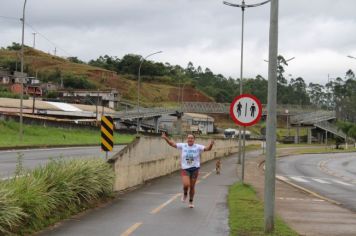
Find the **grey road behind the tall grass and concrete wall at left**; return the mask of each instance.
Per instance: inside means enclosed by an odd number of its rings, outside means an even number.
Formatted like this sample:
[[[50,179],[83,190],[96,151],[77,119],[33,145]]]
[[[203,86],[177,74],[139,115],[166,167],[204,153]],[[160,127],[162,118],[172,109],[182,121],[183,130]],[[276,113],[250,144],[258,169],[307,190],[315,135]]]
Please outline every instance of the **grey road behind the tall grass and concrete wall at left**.
[[[124,145],[114,146],[113,152],[109,152],[108,156],[114,155],[124,147]],[[99,146],[0,151],[0,178],[7,178],[14,174],[19,155],[22,156],[23,166],[26,169],[33,169],[58,158],[105,158],[105,152],[102,152]]]

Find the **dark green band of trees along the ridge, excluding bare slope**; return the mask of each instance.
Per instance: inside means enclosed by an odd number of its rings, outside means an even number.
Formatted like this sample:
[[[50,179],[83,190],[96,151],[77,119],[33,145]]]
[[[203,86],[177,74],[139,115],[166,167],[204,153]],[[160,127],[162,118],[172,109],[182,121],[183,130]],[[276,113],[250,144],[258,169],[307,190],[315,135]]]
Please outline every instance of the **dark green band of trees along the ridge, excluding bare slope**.
[[[140,55],[129,54],[123,58],[100,56],[88,64],[119,74],[137,74],[141,60]],[[356,122],[356,77],[352,70],[348,70],[341,77],[330,79],[326,85],[317,83],[306,84],[301,77],[285,77],[285,68],[288,66],[283,56],[278,56],[277,80],[278,104],[309,105],[314,104],[320,108],[337,110],[339,118]],[[239,95],[239,79],[226,78],[221,74],[214,74],[209,68],[195,67],[189,62],[186,68],[169,63],[144,61],[141,74],[146,81],[159,80],[160,83],[189,85],[203,91],[214,98],[216,102],[230,103]],[[268,82],[257,75],[256,78],[243,79],[244,93],[257,96],[262,103],[267,103]]]

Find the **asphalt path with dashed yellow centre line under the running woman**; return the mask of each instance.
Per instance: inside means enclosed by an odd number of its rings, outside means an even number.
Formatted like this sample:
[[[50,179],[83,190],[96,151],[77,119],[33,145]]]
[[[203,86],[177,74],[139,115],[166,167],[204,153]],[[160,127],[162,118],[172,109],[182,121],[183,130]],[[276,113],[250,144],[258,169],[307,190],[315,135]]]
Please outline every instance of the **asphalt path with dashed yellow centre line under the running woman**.
[[[238,180],[236,162],[236,156],[222,159],[221,175],[215,173],[215,162],[201,167],[193,209],[180,200],[181,179],[175,172],[39,235],[229,235],[226,198],[228,187]]]

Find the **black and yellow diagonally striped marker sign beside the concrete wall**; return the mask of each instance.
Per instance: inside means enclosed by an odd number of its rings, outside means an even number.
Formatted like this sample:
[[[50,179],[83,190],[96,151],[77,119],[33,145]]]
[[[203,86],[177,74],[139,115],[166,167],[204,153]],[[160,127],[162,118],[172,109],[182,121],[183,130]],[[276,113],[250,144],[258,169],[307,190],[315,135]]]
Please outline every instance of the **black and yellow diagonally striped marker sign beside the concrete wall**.
[[[114,120],[111,116],[101,117],[101,150],[106,152],[112,151],[114,147]]]

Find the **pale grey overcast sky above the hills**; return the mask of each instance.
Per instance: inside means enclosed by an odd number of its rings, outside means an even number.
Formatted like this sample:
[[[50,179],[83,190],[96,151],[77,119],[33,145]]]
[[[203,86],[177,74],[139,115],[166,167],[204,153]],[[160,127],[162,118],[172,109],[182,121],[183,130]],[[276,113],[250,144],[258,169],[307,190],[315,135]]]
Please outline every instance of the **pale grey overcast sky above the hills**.
[[[355,0],[279,2],[279,54],[295,57],[287,78],[325,84],[328,75],[356,71],[356,60],[346,57],[356,57]],[[0,0],[0,47],[21,42],[22,7],[23,0]],[[270,4],[245,12],[244,77],[267,78],[269,12]],[[53,54],[57,47],[59,56],[89,61],[162,50],[150,60],[240,74],[241,10],[221,0],[27,0],[26,23],[25,44],[38,32],[36,48]]]

